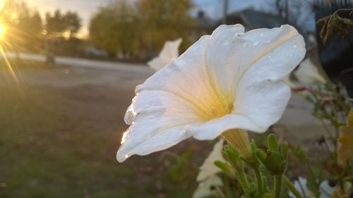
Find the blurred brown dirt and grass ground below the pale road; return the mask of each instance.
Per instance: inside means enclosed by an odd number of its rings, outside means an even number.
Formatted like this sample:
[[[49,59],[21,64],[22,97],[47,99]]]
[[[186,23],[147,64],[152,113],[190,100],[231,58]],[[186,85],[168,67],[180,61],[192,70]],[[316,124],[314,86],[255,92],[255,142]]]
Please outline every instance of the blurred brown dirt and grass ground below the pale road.
[[[133,89],[153,70],[13,65],[18,82],[4,63],[0,70],[0,197],[191,196],[211,141],[190,139],[124,163],[115,159]],[[273,130],[311,144],[322,128],[310,111],[293,97]]]

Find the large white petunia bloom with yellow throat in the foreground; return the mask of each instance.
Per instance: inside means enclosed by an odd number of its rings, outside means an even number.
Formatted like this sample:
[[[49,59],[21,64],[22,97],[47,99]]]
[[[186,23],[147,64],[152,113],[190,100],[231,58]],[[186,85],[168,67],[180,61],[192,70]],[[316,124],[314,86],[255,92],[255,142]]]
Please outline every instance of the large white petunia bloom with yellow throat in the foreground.
[[[290,97],[282,78],[305,51],[290,25],[245,33],[239,24],[220,25],[136,87],[116,158],[147,155],[189,137],[212,140],[231,129],[264,132],[282,116]]]

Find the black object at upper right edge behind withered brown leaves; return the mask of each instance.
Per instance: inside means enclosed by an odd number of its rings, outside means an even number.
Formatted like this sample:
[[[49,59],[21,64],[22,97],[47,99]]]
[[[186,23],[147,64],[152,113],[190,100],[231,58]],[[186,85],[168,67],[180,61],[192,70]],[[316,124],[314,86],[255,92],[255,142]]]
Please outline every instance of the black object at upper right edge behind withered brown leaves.
[[[353,9],[352,5],[321,8],[316,12],[318,56],[333,82],[341,82],[353,97]]]

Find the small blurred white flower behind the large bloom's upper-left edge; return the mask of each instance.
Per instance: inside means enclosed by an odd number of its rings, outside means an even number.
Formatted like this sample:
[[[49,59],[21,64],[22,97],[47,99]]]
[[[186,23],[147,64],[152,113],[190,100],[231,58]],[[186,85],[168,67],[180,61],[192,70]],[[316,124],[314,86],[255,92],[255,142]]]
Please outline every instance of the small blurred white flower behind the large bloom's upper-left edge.
[[[164,43],[162,51],[160,54],[149,61],[147,64],[155,70],[160,70],[164,66],[169,65],[174,61],[175,58],[179,56],[179,45],[181,44],[182,39],[176,39],[174,41],[167,41]]]

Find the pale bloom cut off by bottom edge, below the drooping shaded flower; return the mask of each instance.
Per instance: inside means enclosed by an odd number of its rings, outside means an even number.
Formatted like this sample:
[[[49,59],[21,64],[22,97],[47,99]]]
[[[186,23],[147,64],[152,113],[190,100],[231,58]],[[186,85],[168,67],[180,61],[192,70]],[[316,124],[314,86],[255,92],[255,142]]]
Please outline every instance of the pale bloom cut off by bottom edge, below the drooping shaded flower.
[[[223,182],[221,178],[217,175],[213,175],[198,184],[195,192],[193,192],[193,198],[203,198],[217,195],[214,188],[222,185]]]

